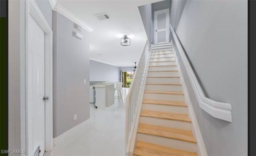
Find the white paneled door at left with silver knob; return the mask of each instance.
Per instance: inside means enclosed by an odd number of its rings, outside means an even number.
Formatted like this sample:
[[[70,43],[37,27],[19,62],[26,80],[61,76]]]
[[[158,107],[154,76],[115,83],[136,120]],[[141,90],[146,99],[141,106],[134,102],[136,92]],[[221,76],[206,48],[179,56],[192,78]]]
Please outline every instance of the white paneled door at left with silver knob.
[[[28,60],[27,60],[27,101],[28,101],[28,155],[34,156],[39,152],[44,154],[45,123],[44,123],[44,94],[45,94],[45,57],[44,32],[31,15],[28,18]]]

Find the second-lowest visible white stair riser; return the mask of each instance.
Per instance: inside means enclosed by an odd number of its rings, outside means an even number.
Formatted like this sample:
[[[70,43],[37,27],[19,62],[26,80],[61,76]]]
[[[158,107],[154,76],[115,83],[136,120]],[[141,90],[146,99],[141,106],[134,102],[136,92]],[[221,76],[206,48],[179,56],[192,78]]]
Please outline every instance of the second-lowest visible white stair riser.
[[[184,122],[184,121],[177,121],[177,120],[168,120],[168,119],[140,116],[140,123],[167,127],[167,128],[176,128],[180,130],[191,130],[191,122]]]

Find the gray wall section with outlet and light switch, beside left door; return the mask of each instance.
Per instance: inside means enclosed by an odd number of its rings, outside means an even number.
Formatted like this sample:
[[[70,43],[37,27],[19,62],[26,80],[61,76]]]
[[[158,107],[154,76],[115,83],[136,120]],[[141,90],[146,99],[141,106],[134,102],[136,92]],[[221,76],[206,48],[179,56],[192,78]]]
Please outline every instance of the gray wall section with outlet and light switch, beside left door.
[[[70,130],[90,117],[89,109],[89,32],[79,31],[74,23],[53,12],[53,136]],[[84,84],[84,79],[87,83]],[[77,120],[74,120],[77,114]]]

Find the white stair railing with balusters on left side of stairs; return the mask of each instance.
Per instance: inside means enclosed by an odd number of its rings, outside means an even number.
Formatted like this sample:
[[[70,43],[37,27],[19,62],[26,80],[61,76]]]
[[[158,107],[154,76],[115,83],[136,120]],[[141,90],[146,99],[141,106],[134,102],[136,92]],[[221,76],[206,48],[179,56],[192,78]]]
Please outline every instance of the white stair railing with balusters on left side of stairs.
[[[133,155],[133,149],[138,127],[138,116],[140,115],[140,107],[146,83],[148,64],[150,58],[150,44],[148,40],[144,46],[140,56],[138,66],[136,68],[132,84],[126,96],[126,154]]]

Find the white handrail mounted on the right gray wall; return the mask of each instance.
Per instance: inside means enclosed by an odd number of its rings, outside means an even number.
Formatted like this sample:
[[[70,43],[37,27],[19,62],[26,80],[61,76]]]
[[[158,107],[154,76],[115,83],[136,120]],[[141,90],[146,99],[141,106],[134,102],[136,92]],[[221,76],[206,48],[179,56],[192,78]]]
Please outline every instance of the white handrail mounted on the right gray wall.
[[[214,101],[210,98],[207,98],[196,78],[196,75],[194,71],[192,70],[192,67],[190,66],[190,63],[188,62],[188,58],[185,55],[185,52],[180,44],[180,41],[178,39],[177,34],[174,32],[174,29],[172,28],[172,25],[170,24],[170,31],[172,35],[172,41],[173,41],[173,46],[174,48],[177,48],[178,50],[176,53],[178,56],[180,56],[182,63],[184,64],[185,70],[186,71],[181,71],[181,72],[186,72],[188,75],[188,78],[191,82],[192,88],[195,92],[196,99],[198,100],[200,108],[202,108],[204,111],[206,111],[208,114],[212,115],[214,118],[226,120],[229,122],[232,122],[232,116],[231,116],[231,105],[228,103],[223,103],[223,102],[217,102]],[[180,64],[181,62],[179,62]],[[184,75],[184,74],[183,74]]]

